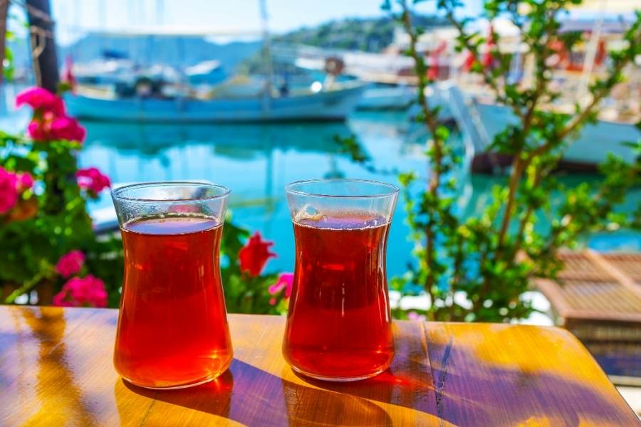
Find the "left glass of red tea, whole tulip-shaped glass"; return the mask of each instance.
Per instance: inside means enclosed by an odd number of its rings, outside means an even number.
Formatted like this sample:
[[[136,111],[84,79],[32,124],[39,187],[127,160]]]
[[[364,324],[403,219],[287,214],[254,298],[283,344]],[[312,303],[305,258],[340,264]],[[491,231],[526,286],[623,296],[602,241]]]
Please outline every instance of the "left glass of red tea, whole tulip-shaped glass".
[[[231,363],[219,247],[229,189],[159,182],[113,190],[125,249],[116,371],[137,386],[211,381]]]

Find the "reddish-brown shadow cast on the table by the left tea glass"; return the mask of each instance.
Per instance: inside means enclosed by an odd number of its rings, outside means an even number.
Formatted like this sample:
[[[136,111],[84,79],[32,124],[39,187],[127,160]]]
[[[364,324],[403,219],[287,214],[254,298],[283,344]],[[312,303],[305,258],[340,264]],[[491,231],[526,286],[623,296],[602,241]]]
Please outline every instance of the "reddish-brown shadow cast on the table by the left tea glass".
[[[208,413],[248,426],[392,424],[385,409],[370,401],[358,396],[294,384],[238,359],[234,359],[230,369],[218,379],[189,389],[144,389],[122,379],[118,379],[116,388],[123,384],[136,394],[198,411],[189,415],[189,422],[182,418],[175,420],[182,423],[204,423],[206,420],[199,417],[203,416],[202,413]],[[115,393],[115,396],[117,400],[126,399],[120,392]],[[120,401],[118,406],[119,410],[123,406]],[[121,411],[121,418],[124,415]],[[152,406],[145,417],[150,425],[155,420],[173,421],[170,409],[163,410],[157,404]]]

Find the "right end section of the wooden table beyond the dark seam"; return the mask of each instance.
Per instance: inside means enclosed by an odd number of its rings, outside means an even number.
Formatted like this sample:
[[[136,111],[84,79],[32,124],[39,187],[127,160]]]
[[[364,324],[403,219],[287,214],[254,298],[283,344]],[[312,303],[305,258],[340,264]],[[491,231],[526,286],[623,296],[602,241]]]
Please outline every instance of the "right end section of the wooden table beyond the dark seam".
[[[439,418],[465,426],[635,425],[625,402],[605,392],[603,372],[582,364],[584,350],[569,334],[506,326],[429,339]],[[527,339],[516,340],[518,331]],[[501,351],[514,342],[518,349]]]

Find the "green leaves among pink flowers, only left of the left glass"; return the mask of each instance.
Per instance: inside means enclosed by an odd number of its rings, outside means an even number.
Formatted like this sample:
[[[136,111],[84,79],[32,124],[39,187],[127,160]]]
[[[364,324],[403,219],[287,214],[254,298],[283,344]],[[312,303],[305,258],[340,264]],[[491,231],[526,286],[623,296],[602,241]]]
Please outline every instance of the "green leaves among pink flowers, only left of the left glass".
[[[53,269],[75,249],[86,256],[88,271],[105,281],[108,303],[117,307],[123,275],[122,243],[114,236],[96,238],[86,210],[87,194],[75,182],[77,142],[33,142],[0,132],[0,166],[29,172],[41,184],[23,195],[36,203],[24,219],[0,223],[0,284],[16,290],[4,302],[44,282],[60,290],[63,278]],[[26,201],[25,201],[26,203]]]

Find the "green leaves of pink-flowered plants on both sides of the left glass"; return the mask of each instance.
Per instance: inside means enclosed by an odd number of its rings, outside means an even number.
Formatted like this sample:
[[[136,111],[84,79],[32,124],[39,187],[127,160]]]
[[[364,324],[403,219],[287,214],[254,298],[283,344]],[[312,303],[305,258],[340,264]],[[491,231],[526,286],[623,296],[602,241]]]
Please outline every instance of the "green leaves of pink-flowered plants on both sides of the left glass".
[[[81,191],[75,179],[75,153],[81,148],[78,142],[33,142],[0,131],[0,166],[11,172],[29,172],[36,180],[33,191],[22,194],[19,202],[31,206],[32,211],[21,218],[0,215],[0,290],[8,295],[0,302],[12,303],[41,285],[58,292],[66,279],[56,273],[54,266],[62,255],[79,250],[85,254],[80,274],[103,280],[108,306],[120,304],[123,243],[119,233],[97,236],[93,231],[87,213],[87,200],[93,195]],[[269,286],[276,283],[276,273],[250,277],[240,270],[238,254],[248,236],[249,231],[236,226],[229,215],[221,243],[227,310],[284,312],[287,301],[282,292],[268,292]],[[40,303],[51,304],[51,300],[40,296]]]

